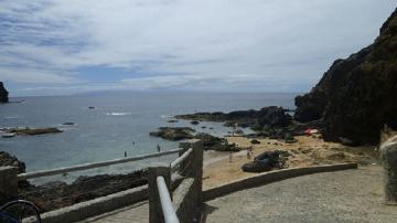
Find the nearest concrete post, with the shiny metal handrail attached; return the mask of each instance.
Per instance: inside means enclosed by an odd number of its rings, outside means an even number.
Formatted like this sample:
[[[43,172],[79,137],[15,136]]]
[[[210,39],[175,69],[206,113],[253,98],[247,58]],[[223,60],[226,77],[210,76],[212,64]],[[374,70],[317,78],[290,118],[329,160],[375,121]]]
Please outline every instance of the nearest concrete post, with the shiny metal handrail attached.
[[[148,169],[148,185],[149,185],[149,222],[159,223],[163,222],[163,214],[160,203],[159,190],[157,187],[157,177],[162,176],[165,184],[171,193],[171,171],[167,164],[159,167],[150,167]],[[171,195],[172,198],[172,195]]]

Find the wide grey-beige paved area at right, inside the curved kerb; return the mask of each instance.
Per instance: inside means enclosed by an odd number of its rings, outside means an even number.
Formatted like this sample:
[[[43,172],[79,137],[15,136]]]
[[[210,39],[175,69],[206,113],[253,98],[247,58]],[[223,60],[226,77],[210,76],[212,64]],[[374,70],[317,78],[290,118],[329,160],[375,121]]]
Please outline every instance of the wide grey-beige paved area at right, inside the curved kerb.
[[[382,191],[378,166],[310,174],[210,201],[206,222],[397,222]]]

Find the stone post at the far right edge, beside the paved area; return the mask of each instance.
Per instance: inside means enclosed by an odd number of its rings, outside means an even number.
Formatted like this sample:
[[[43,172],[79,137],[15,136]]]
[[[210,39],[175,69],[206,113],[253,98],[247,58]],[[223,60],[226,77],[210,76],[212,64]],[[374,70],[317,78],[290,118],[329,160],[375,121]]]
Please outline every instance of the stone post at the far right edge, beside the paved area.
[[[385,202],[397,204],[397,138],[380,146],[380,159],[385,168]]]

